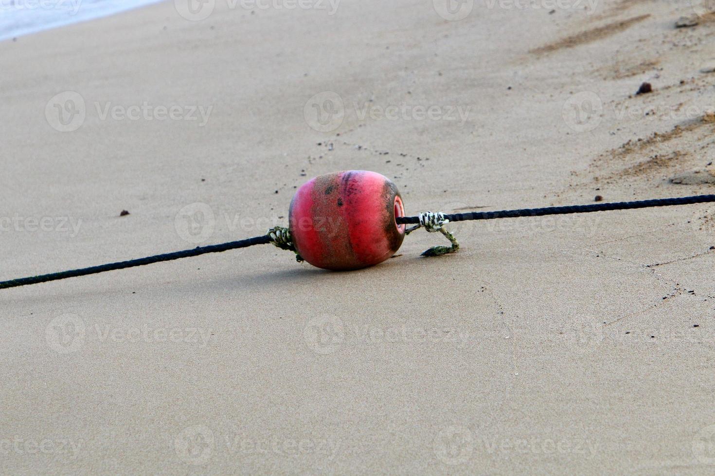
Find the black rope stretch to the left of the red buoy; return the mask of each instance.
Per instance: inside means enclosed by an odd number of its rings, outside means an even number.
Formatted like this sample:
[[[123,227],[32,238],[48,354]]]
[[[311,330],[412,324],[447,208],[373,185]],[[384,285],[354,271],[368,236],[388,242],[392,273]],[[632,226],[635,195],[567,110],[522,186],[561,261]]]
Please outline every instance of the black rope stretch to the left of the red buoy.
[[[246,248],[252,245],[265,245],[271,242],[270,236],[255,236],[240,241],[232,241],[223,243],[222,245],[209,245],[197,247],[192,250],[177,251],[176,253],[167,253],[164,255],[148,256],[147,258],[138,258],[136,260],[120,261],[119,263],[109,263],[107,265],[92,266],[92,268],[82,268],[78,270],[62,271],[61,273],[51,273],[39,276],[31,276],[30,278],[11,279],[9,281],[0,281],[0,289],[16,288],[28,284],[46,283],[58,279],[74,278],[75,276],[84,276],[88,274],[104,273],[104,271],[112,271],[124,268],[132,268],[134,266],[150,265],[161,261],[178,260],[179,258],[188,258],[189,256],[205,255],[206,253],[221,253],[222,251],[235,250],[237,248]]]

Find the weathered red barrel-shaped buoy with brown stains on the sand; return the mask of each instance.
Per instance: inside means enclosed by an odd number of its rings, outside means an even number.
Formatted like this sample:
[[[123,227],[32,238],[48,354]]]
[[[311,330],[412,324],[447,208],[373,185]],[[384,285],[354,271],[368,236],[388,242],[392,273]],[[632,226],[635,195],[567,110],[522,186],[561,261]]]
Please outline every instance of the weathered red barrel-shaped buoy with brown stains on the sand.
[[[402,245],[405,216],[389,178],[369,171],[343,171],[312,178],[290,202],[290,234],[297,253],[329,270],[382,263]]]

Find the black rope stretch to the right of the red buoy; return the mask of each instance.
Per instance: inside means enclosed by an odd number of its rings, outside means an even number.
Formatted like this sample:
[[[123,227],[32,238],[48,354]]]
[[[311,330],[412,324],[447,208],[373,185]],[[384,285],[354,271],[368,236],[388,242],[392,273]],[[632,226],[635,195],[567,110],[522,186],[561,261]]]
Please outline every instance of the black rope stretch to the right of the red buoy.
[[[590,205],[556,206],[546,208],[521,208],[521,210],[475,211],[446,215],[449,221],[493,220],[494,218],[518,218],[522,216],[566,215],[568,213],[591,213],[593,211],[632,210],[658,206],[691,205],[692,203],[715,202],[715,195],[697,195],[679,198],[658,198],[635,202],[592,203]],[[420,223],[419,216],[397,218],[398,224]]]

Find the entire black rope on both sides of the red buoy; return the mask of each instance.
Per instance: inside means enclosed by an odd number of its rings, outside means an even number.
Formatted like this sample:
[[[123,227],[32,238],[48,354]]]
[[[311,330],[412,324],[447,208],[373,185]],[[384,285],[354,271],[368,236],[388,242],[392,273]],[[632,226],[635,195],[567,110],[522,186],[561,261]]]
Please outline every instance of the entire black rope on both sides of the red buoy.
[[[517,218],[521,216],[564,215],[567,213],[590,213],[593,211],[631,210],[633,208],[690,205],[692,203],[708,202],[715,202],[715,195],[699,195],[681,198],[659,198],[656,200],[643,200],[634,202],[593,203],[591,205],[574,205],[547,208],[522,208],[521,210],[455,213],[453,215],[445,215],[444,218],[449,221],[493,220],[494,218]],[[420,217],[400,217],[397,218],[397,223],[420,223]],[[159,263],[161,261],[178,260],[179,258],[189,258],[189,256],[205,255],[207,253],[221,253],[222,251],[235,250],[237,248],[247,248],[248,246],[253,245],[265,245],[267,243],[272,243],[273,241],[275,240],[271,238],[270,234],[263,236],[255,236],[253,238],[247,238],[245,240],[240,241],[231,241],[230,243],[223,243],[221,245],[209,245],[203,247],[199,246],[192,250],[177,251],[176,253],[154,255],[148,256],[147,258],[138,258],[136,260],[120,261],[119,263],[109,263],[106,265],[92,266],[92,268],[82,268],[77,270],[62,271],[61,273],[51,273],[39,276],[31,276],[29,278],[0,281],[0,289],[16,288],[18,286],[36,283],[46,283],[47,281],[54,281],[58,279],[74,278],[75,276],[104,273],[104,271],[133,268],[134,266],[149,265],[152,263]]]

